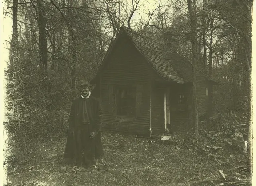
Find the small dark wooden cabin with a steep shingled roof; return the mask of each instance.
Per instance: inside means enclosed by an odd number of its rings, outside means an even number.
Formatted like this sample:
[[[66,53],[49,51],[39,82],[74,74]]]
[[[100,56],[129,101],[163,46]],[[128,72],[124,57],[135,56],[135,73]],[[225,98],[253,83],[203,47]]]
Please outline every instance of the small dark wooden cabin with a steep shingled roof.
[[[199,116],[215,81],[197,71]],[[122,26],[91,84],[96,85],[104,130],[162,134],[192,124],[192,64],[168,44]],[[170,127],[171,126],[171,127]]]

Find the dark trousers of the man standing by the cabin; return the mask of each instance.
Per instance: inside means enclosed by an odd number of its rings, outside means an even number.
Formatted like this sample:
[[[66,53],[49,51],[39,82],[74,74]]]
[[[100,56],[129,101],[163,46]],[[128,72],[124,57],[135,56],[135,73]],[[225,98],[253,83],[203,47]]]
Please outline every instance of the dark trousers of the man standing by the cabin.
[[[95,140],[90,138],[92,127],[90,124],[81,126],[77,130],[77,159],[76,163],[80,166],[82,163],[89,166],[94,160]]]

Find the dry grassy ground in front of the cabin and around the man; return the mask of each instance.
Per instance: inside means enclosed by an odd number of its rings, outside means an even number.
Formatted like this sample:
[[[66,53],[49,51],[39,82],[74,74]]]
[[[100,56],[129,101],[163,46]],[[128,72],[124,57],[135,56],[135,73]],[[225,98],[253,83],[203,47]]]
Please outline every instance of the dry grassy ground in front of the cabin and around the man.
[[[63,138],[40,143],[36,151],[16,156],[18,159],[10,163],[8,170],[9,185],[228,185],[219,169],[231,184],[250,185],[250,174],[237,169],[244,165],[241,157],[218,163],[211,156],[179,145],[147,143],[147,139],[109,133],[102,136],[105,155],[96,168],[68,165],[62,159],[66,142]]]

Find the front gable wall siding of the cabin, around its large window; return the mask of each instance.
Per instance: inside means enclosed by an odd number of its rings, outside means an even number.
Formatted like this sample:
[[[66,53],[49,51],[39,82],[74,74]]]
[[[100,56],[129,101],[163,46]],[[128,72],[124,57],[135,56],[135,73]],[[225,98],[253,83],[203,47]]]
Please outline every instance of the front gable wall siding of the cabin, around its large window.
[[[128,37],[121,35],[101,74],[101,107],[103,130],[149,135],[149,89],[151,68],[133,47]],[[136,87],[136,116],[115,116],[112,111],[115,85]]]

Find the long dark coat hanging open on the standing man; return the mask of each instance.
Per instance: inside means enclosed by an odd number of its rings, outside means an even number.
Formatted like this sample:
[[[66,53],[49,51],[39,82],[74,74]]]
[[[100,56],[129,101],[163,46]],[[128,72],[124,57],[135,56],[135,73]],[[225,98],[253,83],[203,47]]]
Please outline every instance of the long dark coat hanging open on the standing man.
[[[80,96],[73,100],[72,106],[71,106],[71,112],[69,114],[69,132],[68,132],[68,138],[67,138],[67,144],[65,148],[65,153],[64,157],[65,158],[76,158],[76,131],[77,131],[77,126],[81,124],[81,114],[82,114],[82,100],[83,98]],[[90,123],[96,131],[96,136],[95,136],[95,154],[94,157],[95,159],[100,158],[104,152],[103,152],[103,147],[101,143],[101,109],[100,109],[100,103],[97,100],[97,98],[90,96],[86,100],[87,104],[87,113],[90,119]],[[72,136],[72,132],[74,131],[74,136]]]

